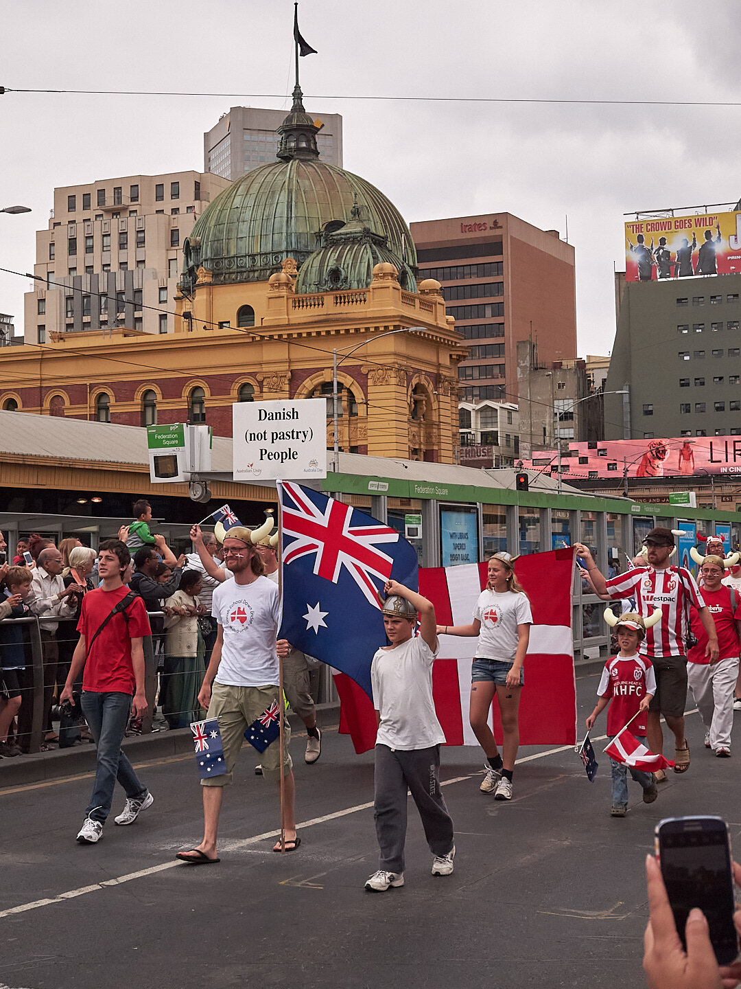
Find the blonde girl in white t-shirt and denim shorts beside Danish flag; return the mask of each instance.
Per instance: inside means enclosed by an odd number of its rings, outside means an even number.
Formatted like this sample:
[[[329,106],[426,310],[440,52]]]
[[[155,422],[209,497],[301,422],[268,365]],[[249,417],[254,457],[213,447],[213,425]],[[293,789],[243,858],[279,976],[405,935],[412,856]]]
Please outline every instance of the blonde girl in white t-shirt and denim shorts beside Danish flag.
[[[530,601],[517,582],[513,562],[509,554],[497,553],[489,560],[489,579],[476,601],[470,625],[438,625],[438,635],[479,639],[471,668],[468,720],[486,756],[481,791],[493,791],[495,800],[512,799],[512,775],[520,746],[523,664],[532,623]],[[502,755],[488,724],[495,695],[504,735]]]

